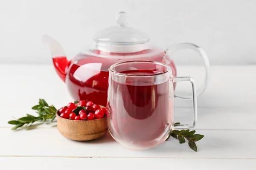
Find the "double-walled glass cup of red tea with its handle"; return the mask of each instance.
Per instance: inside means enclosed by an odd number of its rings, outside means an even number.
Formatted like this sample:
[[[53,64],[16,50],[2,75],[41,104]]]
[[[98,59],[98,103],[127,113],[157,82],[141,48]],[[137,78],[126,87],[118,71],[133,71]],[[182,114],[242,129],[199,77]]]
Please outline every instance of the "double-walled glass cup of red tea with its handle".
[[[193,121],[174,125],[174,82],[190,81]],[[133,149],[148,149],[164,142],[173,129],[195,127],[197,100],[191,77],[173,77],[161,62],[128,61],[111,65],[108,81],[108,129],[113,138]]]

